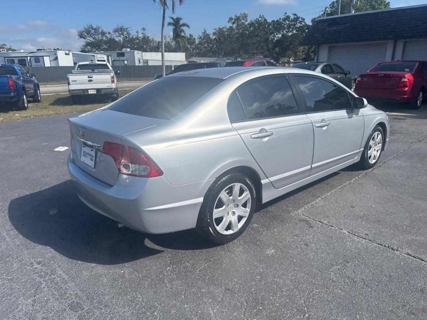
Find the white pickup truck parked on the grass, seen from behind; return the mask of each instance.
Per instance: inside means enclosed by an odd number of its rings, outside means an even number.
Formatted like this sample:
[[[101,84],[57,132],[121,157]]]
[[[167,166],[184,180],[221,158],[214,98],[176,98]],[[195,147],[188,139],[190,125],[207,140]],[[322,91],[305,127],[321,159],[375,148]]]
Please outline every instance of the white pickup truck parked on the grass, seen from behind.
[[[67,75],[68,93],[73,103],[85,96],[103,95],[115,101],[119,98],[116,73],[107,62],[80,62]]]

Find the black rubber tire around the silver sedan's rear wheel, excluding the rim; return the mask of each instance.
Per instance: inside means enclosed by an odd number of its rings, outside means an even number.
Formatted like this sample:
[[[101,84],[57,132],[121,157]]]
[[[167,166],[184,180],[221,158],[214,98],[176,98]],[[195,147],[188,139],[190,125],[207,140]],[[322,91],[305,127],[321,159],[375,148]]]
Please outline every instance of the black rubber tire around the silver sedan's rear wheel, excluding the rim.
[[[219,231],[216,230],[216,227],[214,225],[214,223],[216,222],[213,220],[213,209],[216,205],[216,201],[219,197],[219,194],[225,188],[227,188],[227,186],[230,186],[233,183],[241,183],[244,186],[246,186],[246,188],[249,190],[249,194],[251,197],[250,198],[251,206],[249,208],[249,214],[246,217],[246,221],[243,222],[243,225],[240,227],[240,229],[238,229],[234,233],[225,235],[225,234],[219,233]],[[248,203],[245,202],[242,204],[242,207],[244,206],[244,204],[246,204],[246,206],[248,205]],[[255,212],[256,204],[257,204],[257,199],[256,199],[255,188],[252,181],[246,174],[244,174],[243,172],[231,172],[226,175],[222,175],[216,178],[216,180],[212,183],[212,185],[209,187],[208,191],[206,192],[205,197],[203,198],[202,207],[200,207],[199,216],[197,218],[196,231],[205,239],[208,239],[209,241],[212,241],[217,244],[225,244],[225,243],[231,242],[237,237],[239,237],[250,224],[252,220],[252,216],[254,215],[254,212]],[[219,219],[222,219],[222,218],[220,217]],[[238,217],[236,217],[236,219],[238,219]],[[231,227],[231,221],[229,226]]]

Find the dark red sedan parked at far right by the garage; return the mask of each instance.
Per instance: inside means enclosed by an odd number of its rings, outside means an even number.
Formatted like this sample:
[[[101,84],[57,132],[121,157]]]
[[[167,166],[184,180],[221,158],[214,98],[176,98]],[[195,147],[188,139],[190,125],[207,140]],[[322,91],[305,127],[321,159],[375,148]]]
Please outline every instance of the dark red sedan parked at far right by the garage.
[[[366,99],[403,102],[419,109],[427,92],[427,62],[380,62],[357,78],[355,92]]]

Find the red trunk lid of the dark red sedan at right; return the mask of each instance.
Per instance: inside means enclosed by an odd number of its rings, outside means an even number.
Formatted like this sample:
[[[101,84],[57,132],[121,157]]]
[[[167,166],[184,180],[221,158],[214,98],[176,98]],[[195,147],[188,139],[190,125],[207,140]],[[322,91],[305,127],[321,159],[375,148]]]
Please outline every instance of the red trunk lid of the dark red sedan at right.
[[[360,86],[367,89],[396,89],[407,75],[407,72],[368,72],[360,75]]]

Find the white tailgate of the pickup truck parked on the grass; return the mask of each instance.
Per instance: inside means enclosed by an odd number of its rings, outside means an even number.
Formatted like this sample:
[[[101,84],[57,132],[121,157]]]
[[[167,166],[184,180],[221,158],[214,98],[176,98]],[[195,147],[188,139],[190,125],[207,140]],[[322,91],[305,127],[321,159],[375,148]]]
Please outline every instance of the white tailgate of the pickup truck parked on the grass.
[[[112,72],[105,73],[72,73],[68,75],[71,90],[79,89],[106,89],[112,88]]]

